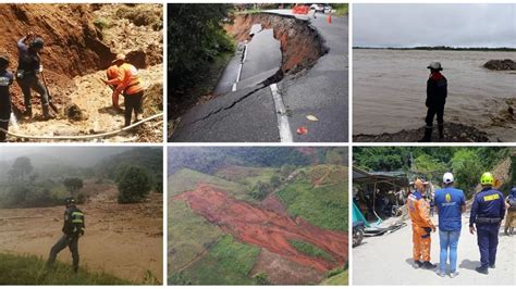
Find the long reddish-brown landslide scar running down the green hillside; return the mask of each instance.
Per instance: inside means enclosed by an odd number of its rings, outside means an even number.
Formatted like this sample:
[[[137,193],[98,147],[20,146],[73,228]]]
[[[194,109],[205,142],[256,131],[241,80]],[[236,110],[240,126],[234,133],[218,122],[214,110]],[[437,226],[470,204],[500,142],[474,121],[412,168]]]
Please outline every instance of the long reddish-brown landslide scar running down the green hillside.
[[[346,234],[322,229],[300,217],[294,219],[285,213],[232,199],[208,185],[199,185],[196,190],[185,191],[174,199],[185,201],[194,212],[242,242],[267,249],[299,265],[327,272],[347,261]],[[305,255],[288,240],[312,243],[327,251],[334,262]]]

